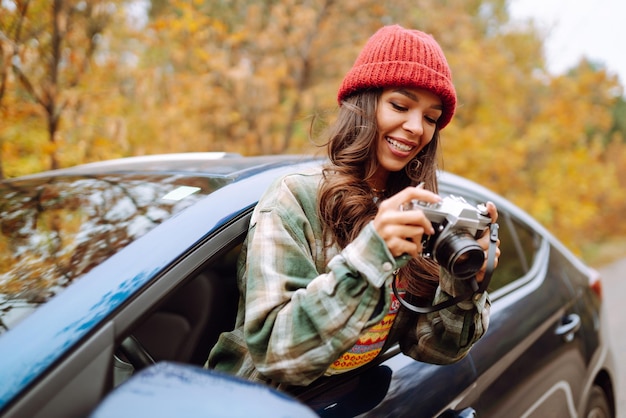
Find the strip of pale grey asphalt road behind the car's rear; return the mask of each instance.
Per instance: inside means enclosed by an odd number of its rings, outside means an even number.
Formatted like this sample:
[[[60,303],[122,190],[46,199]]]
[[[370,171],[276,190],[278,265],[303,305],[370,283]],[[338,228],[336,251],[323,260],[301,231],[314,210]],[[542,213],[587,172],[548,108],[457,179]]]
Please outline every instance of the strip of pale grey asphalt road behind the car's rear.
[[[617,418],[626,418],[626,258],[598,269],[608,311],[611,344],[617,362],[621,393],[617,394]]]

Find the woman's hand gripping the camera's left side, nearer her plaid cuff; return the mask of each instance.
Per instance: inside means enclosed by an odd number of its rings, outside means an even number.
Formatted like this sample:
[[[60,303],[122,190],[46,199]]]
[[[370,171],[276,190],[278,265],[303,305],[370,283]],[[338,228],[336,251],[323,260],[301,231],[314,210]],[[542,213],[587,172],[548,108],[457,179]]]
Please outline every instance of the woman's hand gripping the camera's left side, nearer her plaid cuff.
[[[441,201],[441,197],[424,190],[421,186],[407,187],[382,201],[374,218],[376,232],[385,241],[394,257],[403,254],[418,257],[422,252],[422,236],[435,233],[432,224],[422,210],[401,210],[401,206],[411,202],[411,200],[436,203]]]

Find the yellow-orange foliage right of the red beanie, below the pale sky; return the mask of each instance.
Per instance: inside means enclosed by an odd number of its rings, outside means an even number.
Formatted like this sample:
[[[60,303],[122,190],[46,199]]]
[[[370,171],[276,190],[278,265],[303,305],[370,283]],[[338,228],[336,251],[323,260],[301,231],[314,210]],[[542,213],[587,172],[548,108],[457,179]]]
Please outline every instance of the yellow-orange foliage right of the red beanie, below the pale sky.
[[[464,26],[474,32],[446,50],[459,108],[442,134],[444,168],[509,197],[574,250],[614,233],[616,223],[598,220],[619,193],[605,146],[617,80],[585,61],[552,76],[532,27],[489,36],[481,27]],[[626,152],[624,142],[616,149]]]

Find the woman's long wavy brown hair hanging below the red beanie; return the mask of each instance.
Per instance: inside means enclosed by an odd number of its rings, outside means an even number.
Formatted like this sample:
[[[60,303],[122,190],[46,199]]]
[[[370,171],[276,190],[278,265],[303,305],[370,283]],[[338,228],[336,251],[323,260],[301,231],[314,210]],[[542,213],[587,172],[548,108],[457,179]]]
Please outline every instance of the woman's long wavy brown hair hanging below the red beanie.
[[[326,242],[341,248],[356,238],[378,210],[367,179],[378,165],[376,109],[381,94],[382,89],[371,89],[345,99],[327,134],[329,162],[323,169],[318,210]],[[427,190],[436,193],[438,144],[436,130],[432,141],[404,170],[390,173],[386,196],[422,181]],[[429,259],[413,258],[402,268],[400,277],[410,293],[430,299],[437,287],[439,267]]]

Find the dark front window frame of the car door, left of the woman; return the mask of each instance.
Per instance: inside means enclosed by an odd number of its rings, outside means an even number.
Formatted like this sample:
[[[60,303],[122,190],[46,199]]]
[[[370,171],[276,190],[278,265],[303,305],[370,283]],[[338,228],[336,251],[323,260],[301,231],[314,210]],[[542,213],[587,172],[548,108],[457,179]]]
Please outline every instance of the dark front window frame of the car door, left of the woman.
[[[243,240],[254,206],[244,208],[156,274],[141,291],[85,336],[78,348],[66,353],[12,399],[2,414],[66,415],[67,405],[73,405],[72,411],[87,415],[114,388],[113,356],[121,341],[171,292]]]

